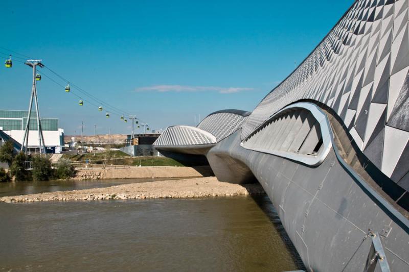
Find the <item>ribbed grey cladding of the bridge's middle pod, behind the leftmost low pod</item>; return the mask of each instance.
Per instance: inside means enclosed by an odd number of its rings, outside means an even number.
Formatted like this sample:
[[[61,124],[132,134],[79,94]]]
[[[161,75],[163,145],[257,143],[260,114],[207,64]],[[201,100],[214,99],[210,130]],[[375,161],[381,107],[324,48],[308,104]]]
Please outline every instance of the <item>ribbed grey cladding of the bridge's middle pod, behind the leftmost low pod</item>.
[[[203,119],[197,128],[213,134],[217,141],[231,135],[242,125],[246,116],[230,112],[213,113]]]

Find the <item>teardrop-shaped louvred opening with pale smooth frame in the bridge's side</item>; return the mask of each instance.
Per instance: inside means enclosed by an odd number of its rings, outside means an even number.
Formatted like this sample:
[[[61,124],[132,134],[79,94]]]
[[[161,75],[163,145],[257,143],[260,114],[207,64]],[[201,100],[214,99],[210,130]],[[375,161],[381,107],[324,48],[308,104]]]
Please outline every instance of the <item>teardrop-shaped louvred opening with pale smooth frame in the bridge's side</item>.
[[[301,102],[269,118],[240,145],[316,166],[331,149],[330,130],[326,115],[316,105]]]

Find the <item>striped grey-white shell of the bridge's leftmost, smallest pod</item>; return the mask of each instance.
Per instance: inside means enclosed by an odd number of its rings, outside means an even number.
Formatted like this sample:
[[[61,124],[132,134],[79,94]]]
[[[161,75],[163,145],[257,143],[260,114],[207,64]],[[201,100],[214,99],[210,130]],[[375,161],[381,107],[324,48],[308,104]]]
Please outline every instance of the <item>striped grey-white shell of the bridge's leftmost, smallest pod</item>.
[[[216,143],[216,138],[206,131],[195,127],[173,126],[168,127],[162,135],[156,139],[154,145],[199,145]]]

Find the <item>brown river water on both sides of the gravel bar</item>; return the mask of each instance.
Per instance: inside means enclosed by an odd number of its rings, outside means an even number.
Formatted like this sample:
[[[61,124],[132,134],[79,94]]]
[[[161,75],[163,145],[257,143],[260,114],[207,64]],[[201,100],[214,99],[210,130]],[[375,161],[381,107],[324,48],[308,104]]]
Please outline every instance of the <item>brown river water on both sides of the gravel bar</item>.
[[[2,184],[0,196],[129,182]],[[266,195],[0,203],[0,216],[0,271],[304,269]]]

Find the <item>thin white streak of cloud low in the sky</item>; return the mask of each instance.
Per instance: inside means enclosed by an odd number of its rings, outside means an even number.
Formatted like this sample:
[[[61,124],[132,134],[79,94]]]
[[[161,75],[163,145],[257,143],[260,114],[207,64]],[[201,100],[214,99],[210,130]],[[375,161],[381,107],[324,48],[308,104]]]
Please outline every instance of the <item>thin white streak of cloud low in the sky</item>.
[[[243,87],[217,87],[217,86],[185,86],[185,85],[154,85],[137,88],[137,92],[154,91],[154,92],[201,92],[216,91],[219,93],[236,93],[241,91],[250,91],[253,88]]]

